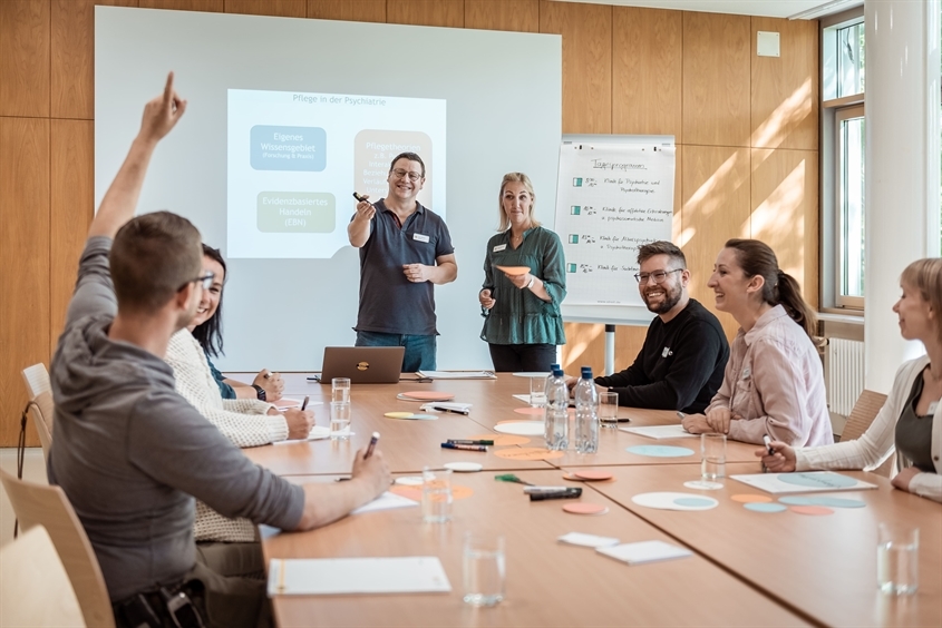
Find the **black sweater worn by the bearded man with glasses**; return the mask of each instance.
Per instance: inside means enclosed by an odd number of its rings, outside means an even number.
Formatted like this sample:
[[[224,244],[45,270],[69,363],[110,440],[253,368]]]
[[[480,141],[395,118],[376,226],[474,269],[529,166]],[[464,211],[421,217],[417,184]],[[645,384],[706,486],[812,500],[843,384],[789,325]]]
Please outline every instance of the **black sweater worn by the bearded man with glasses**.
[[[654,316],[634,364],[600,386],[619,393],[619,405],[703,412],[722,383],[729,343],[706,307],[690,300],[670,323]]]

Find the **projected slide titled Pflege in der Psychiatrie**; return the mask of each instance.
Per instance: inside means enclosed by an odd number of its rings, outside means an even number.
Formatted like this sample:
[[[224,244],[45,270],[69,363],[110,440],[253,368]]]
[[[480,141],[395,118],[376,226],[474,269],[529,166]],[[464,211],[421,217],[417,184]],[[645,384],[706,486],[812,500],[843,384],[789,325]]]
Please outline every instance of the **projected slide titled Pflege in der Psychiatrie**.
[[[352,193],[386,196],[400,153],[425,161],[418,200],[445,216],[445,100],[229,90],[229,257],[329,258]]]

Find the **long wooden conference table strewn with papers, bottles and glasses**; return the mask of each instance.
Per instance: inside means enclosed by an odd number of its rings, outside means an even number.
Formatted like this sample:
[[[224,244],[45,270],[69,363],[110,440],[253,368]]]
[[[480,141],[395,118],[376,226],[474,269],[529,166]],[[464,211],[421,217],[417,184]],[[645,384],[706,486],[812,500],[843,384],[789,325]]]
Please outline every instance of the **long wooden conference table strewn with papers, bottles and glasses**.
[[[329,386],[287,380],[287,396],[329,400]],[[236,375],[236,379],[245,379]],[[249,377],[251,380],[251,376]],[[439,414],[437,421],[387,419],[385,412],[416,411],[418,403],[396,400],[416,390],[449,391],[473,403],[468,416]],[[485,471],[456,474],[470,489],[456,500],[453,521],[421,522],[420,508],[346,518],[321,530],[282,533],[263,542],[266,559],[312,557],[437,556],[451,583],[450,593],[404,596],[275,597],[280,626],[940,626],[942,625],[942,506],[893,490],[872,473],[847,474],[878,484],[878,490],[827,493],[862,500],[865,508],[835,509],[826,517],[792,511],[758,513],[730,499],[761,493],[734,480],[718,491],[686,489],[699,475],[696,439],[654,441],[604,429],[596,454],[569,452],[550,460],[506,459],[487,453],[443,450],[449,438],[492,432],[499,421],[527,420],[514,412],[525,404],[513,394],[528,392],[526,379],[502,374],[496,381],[400,382],[355,385],[350,442],[310,441],[254,448],[246,454],[295,482],[332,481],[349,473],[353,452],[372,431],[395,473],[414,474],[424,465],[475,461]],[[319,425],[327,408],[313,405]],[[672,412],[620,409],[622,425],[676,423]],[[633,455],[637,444],[687,447],[683,458]],[[512,445],[542,448],[542,439]],[[729,443],[727,473],[756,473],[756,445]],[[606,504],[603,516],[562,511],[562,502],[530,502],[522,487],[495,482],[497,471],[513,471],[538,484],[572,484],[562,469],[604,468],[608,482],[583,483],[581,501]],[[716,498],[719,507],[700,512],[654,510],[631,497],[677,491]],[[883,596],[876,588],[876,524],[906,521],[921,530],[920,591],[907,598]],[[507,547],[507,598],[495,608],[462,601],[462,536],[499,533]],[[629,567],[593,550],[556,542],[579,531],[622,542],[666,540],[686,546],[692,558]]]

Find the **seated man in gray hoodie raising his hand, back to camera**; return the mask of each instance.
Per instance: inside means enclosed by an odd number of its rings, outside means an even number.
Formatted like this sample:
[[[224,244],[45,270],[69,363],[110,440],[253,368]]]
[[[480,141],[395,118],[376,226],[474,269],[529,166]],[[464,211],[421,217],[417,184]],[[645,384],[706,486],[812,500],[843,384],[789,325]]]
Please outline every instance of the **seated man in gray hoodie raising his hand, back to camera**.
[[[197,563],[194,497],[227,517],[307,530],[390,483],[382,455],[361,451],[350,482],[290,484],[251,463],[175,392],[163,356],[212,274],[202,272],[200,233],[188,220],[132,216],[154,148],[185,109],[171,73],[91,223],[52,360],[49,480],[88,533],[119,627],[270,620],[263,581]]]

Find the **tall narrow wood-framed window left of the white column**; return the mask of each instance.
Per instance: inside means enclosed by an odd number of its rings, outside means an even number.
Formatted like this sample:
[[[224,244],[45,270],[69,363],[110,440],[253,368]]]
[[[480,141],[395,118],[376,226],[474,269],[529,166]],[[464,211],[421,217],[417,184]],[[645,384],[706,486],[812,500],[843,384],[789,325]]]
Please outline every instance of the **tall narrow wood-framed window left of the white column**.
[[[863,9],[822,20],[822,305],[864,307]]]

